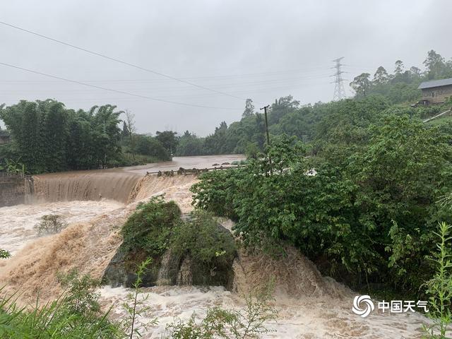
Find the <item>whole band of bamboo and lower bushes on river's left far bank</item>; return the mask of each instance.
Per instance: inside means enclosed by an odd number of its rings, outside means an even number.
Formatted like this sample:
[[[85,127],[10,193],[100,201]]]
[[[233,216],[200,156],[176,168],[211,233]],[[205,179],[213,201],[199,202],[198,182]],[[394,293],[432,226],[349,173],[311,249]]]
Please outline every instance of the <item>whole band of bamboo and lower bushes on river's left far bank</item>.
[[[0,147],[0,166],[18,162],[36,174],[168,160],[169,148],[158,138],[133,133],[132,120],[119,129],[123,113],[112,105],[74,111],[54,100],[0,106],[12,138]]]

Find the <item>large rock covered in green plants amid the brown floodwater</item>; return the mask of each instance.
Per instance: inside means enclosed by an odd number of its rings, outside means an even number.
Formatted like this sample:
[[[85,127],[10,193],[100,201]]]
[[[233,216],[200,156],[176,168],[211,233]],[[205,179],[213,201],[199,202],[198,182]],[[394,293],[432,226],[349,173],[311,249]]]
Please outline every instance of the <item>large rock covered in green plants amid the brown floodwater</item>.
[[[131,287],[136,266],[153,264],[143,286],[223,285],[231,287],[237,248],[232,234],[212,215],[181,215],[173,201],[153,198],[137,207],[121,230],[124,241],[105,270],[103,283]]]

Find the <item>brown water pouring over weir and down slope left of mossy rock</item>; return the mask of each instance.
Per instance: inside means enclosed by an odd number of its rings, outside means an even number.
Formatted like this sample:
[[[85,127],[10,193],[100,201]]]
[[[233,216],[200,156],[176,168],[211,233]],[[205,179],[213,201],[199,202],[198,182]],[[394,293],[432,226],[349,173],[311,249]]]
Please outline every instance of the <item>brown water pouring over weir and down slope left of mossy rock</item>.
[[[121,169],[36,175],[27,199],[35,209],[42,206],[49,213],[59,213],[59,206],[63,204],[65,208],[75,206],[77,213],[83,214],[79,206],[91,201],[91,212],[102,201],[121,204],[113,203],[113,210],[100,209],[94,218],[72,222],[60,233],[47,237],[33,237],[35,221],[30,220],[31,230],[27,231],[28,238],[20,240],[24,243],[21,249],[12,258],[0,262],[0,285],[6,285],[4,292],[20,290],[25,300],[37,293],[45,300],[61,292],[57,283],[59,272],[76,269],[81,274],[102,278],[121,245],[121,227],[135,211],[136,204],[153,195],[165,194],[167,200],[177,202],[182,213],[188,213],[191,210],[189,188],[194,182],[194,175],[143,177]],[[22,206],[23,213],[28,213],[26,205]],[[11,238],[13,244],[18,240]]]

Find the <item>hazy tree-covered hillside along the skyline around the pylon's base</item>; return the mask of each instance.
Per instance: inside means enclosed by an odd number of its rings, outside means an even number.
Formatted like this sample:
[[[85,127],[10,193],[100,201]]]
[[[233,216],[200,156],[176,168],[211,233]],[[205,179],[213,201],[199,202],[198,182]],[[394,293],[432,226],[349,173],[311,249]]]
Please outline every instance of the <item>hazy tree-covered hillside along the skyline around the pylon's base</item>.
[[[269,130],[272,135],[283,133],[296,136],[302,141],[312,141],[318,135],[319,124],[344,109],[372,108],[372,111],[387,109],[391,105],[396,107],[410,107],[421,98],[421,91],[417,89],[422,81],[432,79],[452,78],[452,60],[431,50],[424,61],[424,69],[417,66],[405,67],[403,61],[397,60],[393,73],[389,73],[383,66],[379,66],[373,76],[361,73],[356,76],[350,86],[355,91],[352,100],[362,101],[369,97],[378,99],[367,104],[353,105],[341,102],[318,102],[314,105],[301,105],[291,95],[280,97],[270,106],[268,115]],[[364,100],[364,102],[369,102]],[[411,114],[428,117],[437,113],[433,109],[417,109]],[[324,124],[323,124],[324,125]],[[194,133],[186,131],[179,137],[176,155],[210,155],[228,153],[246,153],[252,155],[263,150],[265,145],[265,121],[263,114],[256,112],[252,100],[246,100],[244,113],[240,121],[227,126],[222,121],[220,126],[206,138],[198,138]]]

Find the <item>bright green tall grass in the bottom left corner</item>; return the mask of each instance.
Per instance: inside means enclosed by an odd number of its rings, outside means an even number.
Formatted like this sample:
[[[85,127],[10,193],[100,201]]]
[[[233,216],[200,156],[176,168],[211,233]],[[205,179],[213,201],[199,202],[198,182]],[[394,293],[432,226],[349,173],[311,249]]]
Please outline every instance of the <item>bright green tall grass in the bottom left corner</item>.
[[[0,338],[114,339],[124,338],[119,323],[108,320],[109,311],[101,313],[98,296],[87,278],[71,275],[68,289],[54,302],[20,307],[18,295],[0,297]],[[0,296],[4,288],[0,288]],[[89,300],[90,307],[80,307]]]

